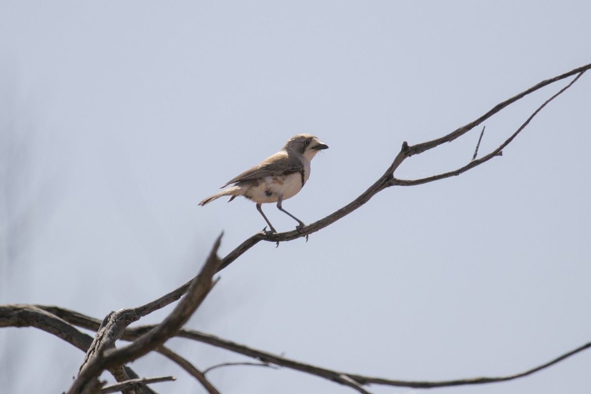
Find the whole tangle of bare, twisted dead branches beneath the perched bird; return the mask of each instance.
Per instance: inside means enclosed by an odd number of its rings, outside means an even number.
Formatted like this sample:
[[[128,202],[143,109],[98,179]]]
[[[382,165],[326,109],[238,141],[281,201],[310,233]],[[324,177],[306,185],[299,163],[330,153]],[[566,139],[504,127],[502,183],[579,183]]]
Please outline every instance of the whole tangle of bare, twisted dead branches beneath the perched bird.
[[[561,362],[573,356],[574,354],[589,349],[591,347],[591,343],[584,344],[583,346],[569,351],[568,353],[565,353],[562,356],[551,360],[550,362],[514,375],[421,382],[411,380],[392,380],[381,377],[363,376],[324,369],[311,364],[300,363],[285,357],[276,356],[265,351],[252,349],[242,344],[233,343],[232,341],[224,340],[209,334],[181,328],[181,326],[186,323],[191,314],[193,314],[193,312],[199,307],[212,286],[215,285],[215,281],[212,279],[213,275],[223,268],[226,268],[228,265],[230,265],[230,263],[235,261],[248,249],[256,245],[256,243],[260,242],[261,240],[268,242],[285,242],[288,240],[297,239],[299,237],[307,237],[311,233],[317,232],[324,227],[329,226],[342,217],[348,215],[352,211],[358,209],[363,204],[367,203],[373,196],[375,196],[375,194],[379,193],[385,188],[392,186],[418,185],[452,177],[475,168],[478,165],[489,161],[493,157],[501,155],[502,150],[511,144],[514,138],[548,103],[569,89],[569,87],[577,82],[583,73],[589,69],[591,69],[591,64],[587,64],[586,66],[571,70],[568,73],[564,73],[560,76],[556,76],[535,84],[534,86],[530,87],[530,89],[524,90],[524,92],[521,92],[518,95],[515,95],[514,97],[511,97],[510,99],[494,106],[491,110],[480,116],[475,121],[467,123],[465,126],[462,126],[440,138],[415,145],[408,145],[407,142],[404,142],[400,152],[398,152],[394,158],[394,161],[392,161],[384,174],[379,177],[378,180],[376,180],[374,184],[372,184],[365,192],[363,192],[359,197],[355,198],[355,200],[351,201],[341,209],[336,210],[335,212],[329,214],[323,219],[318,220],[317,222],[303,227],[303,229],[273,234],[267,234],[264,232],[256,233],[242,242],[241,245],[233,249],[223,259],[219,259],[217,257],[217,249],[220,245],[220,236],[216,240],[212,252],[210,253],[209,258],[201,269],[199,275],[191,279],[191,281],[187,282],[183,286],[174,289],[163,297],[149,302],[148,304],[141,305],[140,307],[136,308],[121,310],[118,312],[111,312],[111,314],[109,314],[102,322],[98,319],[87,317],[86,315],[67,310],[65,308],[43,305],[0,305],[0,327],[40,328],[41,330],[60,337],[64,341],[76,346],[78,349],[86,351],[85,362],[80,367],[79,376],[77,376],[72,386],[67,391],[68,394],[99,393],[101,390],[104,392],[104,390],[113,389],[112,386],[101,389],[104,383],[99,382],[98,377],[100,376],[100,373],[103,372],[103,370],[109,370],[120,383],[129,382],[126,385],[116,386],[121,387],[121,390],[123,390],[124,393],[133,393],[136,389],[138,389],[138,387],[139,392],[152,393],[151,389],[145,386],[145,384],[137,386],[135,383],[131,383],[131,380],[138,378],[138,376],[131,369],[125,366],[125,363],[144,356],[150,351],[158,351],[165,357],[168,357],[168,359],[177,363],[180,367],[190,373],[191,376],[194,376],[210,394],[219,393],[212,383],[206,379],[204,372],[201,372],[188,360],[163,346],[165,341],[173,336],[188,338],[221,349],[233,351],[234,353],[242,354],[243,356],[248,356],[259,360],[259,362],[265,365],[276,365],[297,370],[299,372],[309,373],[332,382],[337,382],[341,385],[349,386],[360,393],[368,393],[364,386],[371,384],[408,388],[437,388],[445,386],[505,382],[508,380],[517,379],[519,377],[528,376],[532,373],[546,369],[547,367]],[[502,109],[514,102],[517,102],[519,99],[522,99],[523,97],[541,89],[542,87],[548,86],[554,82],[566,79],[571,76],[575,77],[570,83],[568,83],[556,94],[546,100],[541,106],[539,106],[529,116],[529,118],[521,126],[519,126],[517,131],[512,133],[512,135],[506,139],[505,142],[483,157],[476,159],[476,155],[478,154],[477,145],[475,157],[473,157],[472,161],[463,167],[457,168],[456,170],[416,180],[400,180],[394,177],[395,171],[408,157],[421,154],[446,142],[452,142],[476,126],[480,125],[486,119],[491,118],[491,116],[495,115]],[[480,139],[482,139],[482,133],[480,134]],[[141,317],[144,317],[155,310],[163,308],[164,306],[171,304],[171,302],[177,301],[183,296],[183,294],[186,294],[185,297],[181,299],[174,311],[171,312],[171,314],[168,315],[168,317],[165,318],[162,323],[158,325],[142,325],[133,328],[129,327],[130,324],[138,321]],[[80,332],[74,326],[96,331],[95,338],[93,339],[87,334]],[[120,349],[116,349],[115,343],[119,339],[131,341],[131,344],[121,347]]]

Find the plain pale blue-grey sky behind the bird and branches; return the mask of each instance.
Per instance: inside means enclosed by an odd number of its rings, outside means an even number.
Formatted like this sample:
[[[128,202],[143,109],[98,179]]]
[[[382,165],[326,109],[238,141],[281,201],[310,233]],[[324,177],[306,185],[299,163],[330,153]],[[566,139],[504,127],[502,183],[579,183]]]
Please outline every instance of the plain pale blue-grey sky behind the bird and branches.
[[[197,203],[300,132],[330,146],[284,202],[314,222],[381,176],[403,141],[441,136],[589,63],[589,15],[587,1],[3,1],[0,302],[102,318],[176,288],[222,230],[225,254],[265,224],[241,198]],[[480,152],[564,84],[486,121]],[[508,375],[587,343],[590,106],[585,75],[503,157],[382,191],[307,243],[259,243],[189,326],[392,379]],[[479,130],[395,175],[466,164]],[[200,368],[242,360],[169,344]],[[0,330],[0,387],[61,392],[83,356],[34,329]],[[590,362],[583,353],[515,382],[430,392],[582,392]],[[158,392],[203,392],[158,355],[133,367],[177,376]],[[209,376],[224,394],[352,392],[288,370]]]

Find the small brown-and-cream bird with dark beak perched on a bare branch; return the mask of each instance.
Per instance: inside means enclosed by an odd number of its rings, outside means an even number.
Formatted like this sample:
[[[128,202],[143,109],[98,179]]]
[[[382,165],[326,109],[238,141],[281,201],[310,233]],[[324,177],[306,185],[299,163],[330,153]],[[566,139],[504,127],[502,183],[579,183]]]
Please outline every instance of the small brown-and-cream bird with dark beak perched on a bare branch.
[[[233,184],[232,186],[205,198],[199,205],[203,206],[222,196],[232,196],[228,202],[236,196],[244,196],[256,203],[256,209],[271,229],[270,233],[275,233],[275,227],[262,213],[261,204],[277,203],[279,210],[287,213],[299,223],[296,229],[300,230],[305,226],[304,222],[284,210],[281,203],[283,200],[295,196],[304,187],[310,177],[310,160],[322,149],[328,149],[328,146],[315,136],[310,134],[294,135],[287,140],[281,151],[232,178],[222,188],[229,184]]]

